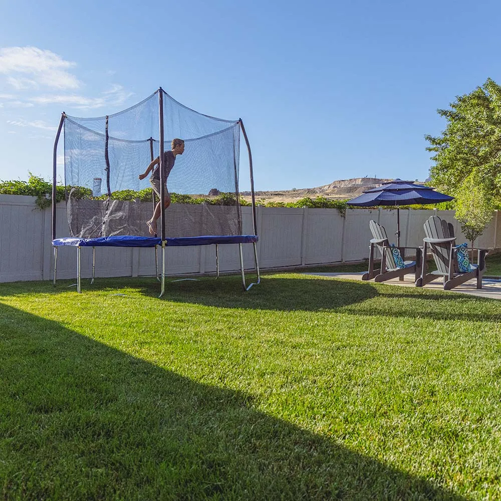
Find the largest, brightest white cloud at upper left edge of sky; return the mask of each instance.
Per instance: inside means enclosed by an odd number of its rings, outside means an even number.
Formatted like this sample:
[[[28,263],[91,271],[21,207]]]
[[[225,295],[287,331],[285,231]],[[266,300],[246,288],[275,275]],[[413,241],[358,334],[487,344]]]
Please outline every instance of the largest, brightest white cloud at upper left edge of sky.
[[[68,70],[76,63],[37,47],[0,49],[0,73],[15,89],[44,86],[51,89],[78,89],[80,82]]]

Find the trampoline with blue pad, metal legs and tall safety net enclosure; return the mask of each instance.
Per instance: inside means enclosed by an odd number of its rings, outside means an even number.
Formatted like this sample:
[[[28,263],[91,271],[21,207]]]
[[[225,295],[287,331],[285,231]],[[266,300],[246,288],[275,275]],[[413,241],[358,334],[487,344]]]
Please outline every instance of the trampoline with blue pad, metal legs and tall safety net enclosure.
[[[63,127],[64,185],[70,236],[57,237],[56,152]],[[238,188],[240,131],[248,150],[254,234],[242,234]],[[175,159],[170,174],[165,171],[164,136],[169,141],[174,137],[182,138],[186,146],[185,155]],[[168,186],[170,192],[188,201],[176,204],[175,211],[158,203],[154,191],[148,193],[147,180],[138,176],[155,157],[161,197],[165,196]],[[168,247],[214,245],[218,278],[218,248],[221,244],[238,244],[243,289],[248,291],[260,283],[252,154],[241,119],[222,120],[200,114],[175,101],[162,88],[114,115],[77,118],[63,113],[54,143],[53,174],[54,285],[60,246],[77,249],[78,293],[81,293],[82,247],[92,248],[91,284],[95,279],[96,247],[152,247],[155,249],[156,278],[161,282],[161,297],[165,292]],[[103,180],[106,183],[104,190],[101,189]],[[198,198],[196,203],[197,196],[214,193],[221,195],[221,203],[216,200],[212,204],[210,198],[203,198],[202,203]],[[142,198],[138,199],[138,196]],[[149,202],[145,196],[151,197]],[[147,235],[145,221],[157,203],[160,207],[160,234]],[[249,243],[254,246],[257,281],[247,286],[242,245]],[[161,248],[160,273],[158,247]]]

